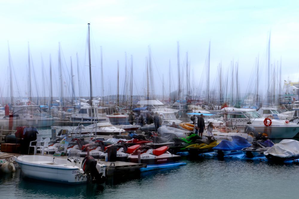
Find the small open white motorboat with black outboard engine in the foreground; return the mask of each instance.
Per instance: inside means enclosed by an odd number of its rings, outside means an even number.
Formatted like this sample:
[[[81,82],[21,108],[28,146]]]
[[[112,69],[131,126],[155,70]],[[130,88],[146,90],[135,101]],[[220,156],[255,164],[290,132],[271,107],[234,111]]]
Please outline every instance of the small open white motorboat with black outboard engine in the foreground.
[[[71,184],[85,183],[88,179],[94,178],[101,183],[105,182],[106,166],[102,163],[94,164],[96,160],[92,159],[91,156],[87,156],[81,161],[78,153],[70,152],[68,159],[20,155],[16,162],[29,178]],[[81,168],[81,162],[84,170]],[[91,173],[91,178],[88,173]]]

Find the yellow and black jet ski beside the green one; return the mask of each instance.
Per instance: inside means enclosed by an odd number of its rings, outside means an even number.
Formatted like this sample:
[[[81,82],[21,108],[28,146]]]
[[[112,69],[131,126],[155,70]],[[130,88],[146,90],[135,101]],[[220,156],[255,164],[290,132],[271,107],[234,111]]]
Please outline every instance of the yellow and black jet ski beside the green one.
[[[205,136],[206,139],[196,140],[196,144],[186,146],[187,152],[192,155],[213,151],[213,147],[217,146],[219,142],[213,136]]]

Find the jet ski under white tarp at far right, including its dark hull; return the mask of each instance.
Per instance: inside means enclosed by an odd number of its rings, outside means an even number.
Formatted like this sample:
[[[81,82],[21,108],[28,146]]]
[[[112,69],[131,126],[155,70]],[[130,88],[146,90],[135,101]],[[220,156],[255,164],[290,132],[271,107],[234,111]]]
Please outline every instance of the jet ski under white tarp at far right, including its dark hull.
[[[284,162],[299,158],[299,141],[284,139],[264,152],[269,161]]]

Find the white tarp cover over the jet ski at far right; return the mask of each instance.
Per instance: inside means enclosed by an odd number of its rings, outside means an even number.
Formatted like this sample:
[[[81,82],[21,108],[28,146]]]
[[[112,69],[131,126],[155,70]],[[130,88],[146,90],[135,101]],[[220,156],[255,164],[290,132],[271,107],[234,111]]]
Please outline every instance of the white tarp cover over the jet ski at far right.
[[[265,155],[273,155],[279,158],[291,158],[299,155],[299,141],[285,139],[278,144],[274,144],[264,152]]]

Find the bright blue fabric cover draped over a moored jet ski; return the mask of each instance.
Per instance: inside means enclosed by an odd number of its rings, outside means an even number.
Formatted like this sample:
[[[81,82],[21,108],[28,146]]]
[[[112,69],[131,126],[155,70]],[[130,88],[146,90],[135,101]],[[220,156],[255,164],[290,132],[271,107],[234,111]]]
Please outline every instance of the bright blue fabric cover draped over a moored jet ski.
[[[213,149],[229,151],[229,150],[239,150],[251,146],[251,144],[245,138],[239,135],[232,135],[231,138],[233,139],[233,141],[222,140]]]

